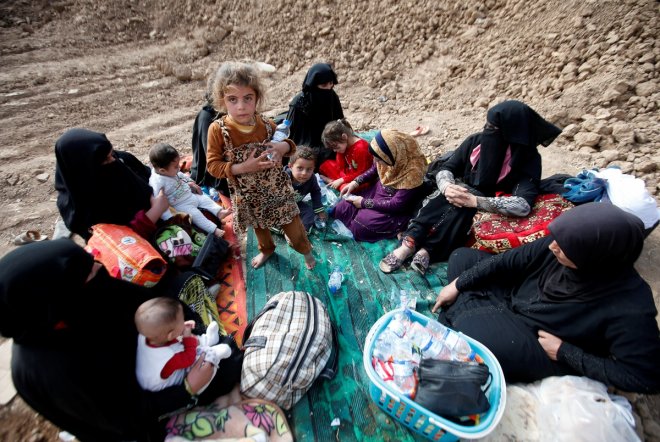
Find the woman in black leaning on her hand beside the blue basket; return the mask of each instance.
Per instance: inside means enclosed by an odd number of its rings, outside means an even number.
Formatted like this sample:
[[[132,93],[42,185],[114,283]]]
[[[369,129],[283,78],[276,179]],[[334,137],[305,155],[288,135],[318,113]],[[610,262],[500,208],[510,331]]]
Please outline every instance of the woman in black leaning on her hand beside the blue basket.
[[[480,341],[508,382],[587,376],[625,391],[660,391],[660,332],[633,264],[644,225],[609,203],[550,223],[551,235],[500,255],[461,248],[434,311]]]

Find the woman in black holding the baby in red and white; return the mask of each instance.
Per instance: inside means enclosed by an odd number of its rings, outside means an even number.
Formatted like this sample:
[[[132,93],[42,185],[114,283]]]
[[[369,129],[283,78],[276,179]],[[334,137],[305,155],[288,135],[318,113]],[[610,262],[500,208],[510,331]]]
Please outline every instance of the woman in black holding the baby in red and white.
[[[146,299],[179,296],[187,279],[144,288],[110,277],[71,240],[28,244],[0,259],[0,334],[13,338],[12,379],[38,413],[81,441],[163,440],[161,416],[210,403],[240,379],[240,354],[196,363],[185,386],[158,393],[135,377],[133,315]],[[199,317],[186,309],[187,319]],[[203,330],[203,329],[202,329]],[[223,367],[223,363],[227,365]],[[209,391],[211,390],[211,391]]]

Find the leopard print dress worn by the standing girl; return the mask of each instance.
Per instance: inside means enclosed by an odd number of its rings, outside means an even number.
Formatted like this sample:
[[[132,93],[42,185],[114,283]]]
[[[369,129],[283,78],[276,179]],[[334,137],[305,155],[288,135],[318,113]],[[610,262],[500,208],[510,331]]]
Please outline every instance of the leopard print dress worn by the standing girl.
[[[273,135],[268,120],[260,116],[266,126],[267,140]],[[234,164],[245,161],[253,149],[260,155],[266,150],[263,142],[251,142],[234,146],[225,118],[216,120],[222,129],[225,141],[225,161]],[[273,167],[259,172],[237,175],[229,180],[232,206],[234,207],[234,229],[245,233],[248,226],[268,229],[289,224],[300,213],[295,202],[291,180],[282,167]]]

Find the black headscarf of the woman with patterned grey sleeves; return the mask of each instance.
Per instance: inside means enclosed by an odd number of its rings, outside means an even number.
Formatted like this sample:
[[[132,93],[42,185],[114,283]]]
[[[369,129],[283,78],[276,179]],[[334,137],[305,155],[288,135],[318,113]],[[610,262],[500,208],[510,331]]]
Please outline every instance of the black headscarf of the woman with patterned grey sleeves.
[[[525,166],[539,144],[549,145],[561,129],[544,120],[534,109],[517,100],[507,100],[488,110],[481,133],[481,153],[474,186],[491,194],[511,146],[511,167]]]

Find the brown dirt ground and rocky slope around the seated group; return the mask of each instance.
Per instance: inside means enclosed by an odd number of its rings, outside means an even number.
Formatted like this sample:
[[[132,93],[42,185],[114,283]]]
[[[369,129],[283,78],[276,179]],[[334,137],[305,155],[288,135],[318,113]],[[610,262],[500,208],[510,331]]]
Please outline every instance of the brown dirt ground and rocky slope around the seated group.
[[[66,129],[105,132],[145,162],[155,142],[190,154],[206,77],[227,59],[276,68],[269,115],[330,62],[357,130],[428,125],[429,158],[480,130],[490,105],[520,99],[564,128],[542,149],[545,176],[618,165],[657,198],[659,12],[653,0],[0,1],[0,256],[26,230],[52,236]],[[658,230],[638,269],[660,304]],[[659,397],[627,397],[640,434],[660,440]],[[15,398],[0,439],[57,430]]]

